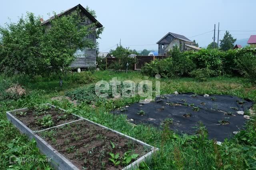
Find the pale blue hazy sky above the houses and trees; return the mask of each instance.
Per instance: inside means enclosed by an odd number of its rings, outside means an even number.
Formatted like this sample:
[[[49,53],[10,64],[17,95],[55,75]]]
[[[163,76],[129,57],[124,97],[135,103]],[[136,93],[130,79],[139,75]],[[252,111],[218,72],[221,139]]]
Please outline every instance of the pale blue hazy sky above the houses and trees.
[[[98,40],[103,52],[120,39],[130,49],[158,49],[156,42],[168,32],[195,39],[205,47],[212,42],[214,23],[217,30],[218,22],[220,30],[241,30],[230,31],[237,39],[256,35],[256,0],[5,0],[1,2],[0,25],[9,22],[8,18],[16,22],[26,12],[46,20],[48,13],[59,13],[77,4],[95,10],[97,20],[104,25]],[[212,32],[198,35],[208,31]],[[220,39],[223,35],[220,31]]]

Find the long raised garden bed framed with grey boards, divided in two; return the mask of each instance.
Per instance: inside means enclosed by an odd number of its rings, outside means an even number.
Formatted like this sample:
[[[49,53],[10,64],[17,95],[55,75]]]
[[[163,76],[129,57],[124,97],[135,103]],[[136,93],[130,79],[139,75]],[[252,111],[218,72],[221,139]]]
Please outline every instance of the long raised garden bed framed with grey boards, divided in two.
[[[51,107],[48,110],[50,113],[55,113],[54,106],[46,105]],[[58,110],[61,110],[61,115],[67,113],[63,109]],[[51,158],[52,167],[55,169],[138,168],[140,162],[150,159],[157,150],[142,141],[72,113],[70,115],[76,120],[70,119],[61,125],[56,123],[54,127],[45,129],[36,123],[38,127],[32,127],[37,131],[32,131],[24,124],[27,121],[23,123],[24,119],[19,119],[22,114],[17,114],[26,112],[26,116],[30,114],[29,111],[31,110],[23,108],[7,111],[6,115],[21,133],[36,140],[40,152]]]

